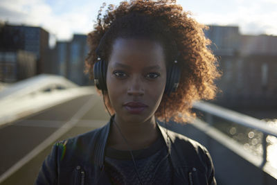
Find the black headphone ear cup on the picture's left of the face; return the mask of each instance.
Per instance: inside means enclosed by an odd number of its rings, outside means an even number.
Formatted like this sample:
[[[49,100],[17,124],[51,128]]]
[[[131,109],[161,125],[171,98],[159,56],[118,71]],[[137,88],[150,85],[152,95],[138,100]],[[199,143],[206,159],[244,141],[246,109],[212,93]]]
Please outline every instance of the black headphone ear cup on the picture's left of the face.
[[[94,83],[97,89],[107,91],[107,65],[104,60],[99,60],[93,67]]]

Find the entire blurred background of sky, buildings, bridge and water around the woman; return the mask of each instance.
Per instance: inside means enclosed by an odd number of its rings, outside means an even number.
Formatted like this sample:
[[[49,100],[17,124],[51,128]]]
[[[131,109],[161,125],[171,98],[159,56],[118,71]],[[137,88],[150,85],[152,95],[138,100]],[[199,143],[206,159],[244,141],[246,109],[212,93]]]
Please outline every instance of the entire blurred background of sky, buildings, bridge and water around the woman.
[[[107,123],[83,72],[103,2],[0,1],[0,184],[33,184],[55,141]],[[277,1],[177,3],[209,27],[223,75],[195,123],[171,129],[208,148],[218,184],[277,184]]]

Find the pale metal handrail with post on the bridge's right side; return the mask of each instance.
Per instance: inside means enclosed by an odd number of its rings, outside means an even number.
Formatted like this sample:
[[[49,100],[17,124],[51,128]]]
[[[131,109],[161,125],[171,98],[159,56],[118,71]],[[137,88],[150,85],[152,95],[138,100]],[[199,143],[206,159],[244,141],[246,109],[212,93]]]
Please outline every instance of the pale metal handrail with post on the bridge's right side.
[[[193,104],[193,108],[198,109],[206,114],[206,122],[213,125],[213,116],[223,118],[224,120],[231,121],[235,124],[242,125],[244,127],[249,127],[254,130],[258,130],[263,133],[262,136],[262,163],[260,168],[265,166],[267,162],[267,136],[277,137],[277,129],[269,127],[265,121],[260,121],[257,118],[240,114],[238,112],[226,109],[217,105],[206,102],[196,102]]]

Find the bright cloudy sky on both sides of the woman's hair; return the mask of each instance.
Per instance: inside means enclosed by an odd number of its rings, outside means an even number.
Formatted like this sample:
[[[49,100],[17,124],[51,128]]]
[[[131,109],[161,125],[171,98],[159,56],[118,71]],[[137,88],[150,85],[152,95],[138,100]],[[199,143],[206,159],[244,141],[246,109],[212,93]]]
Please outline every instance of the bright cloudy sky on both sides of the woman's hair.
[[[1,0],[0,20],[9,24],[41,26],[51,41],[71,39],[73,33],[93,30],[103,2],[116,0]],[[177,0],[202,24],[239,26],[248,35],[277,35],[277,0]]]

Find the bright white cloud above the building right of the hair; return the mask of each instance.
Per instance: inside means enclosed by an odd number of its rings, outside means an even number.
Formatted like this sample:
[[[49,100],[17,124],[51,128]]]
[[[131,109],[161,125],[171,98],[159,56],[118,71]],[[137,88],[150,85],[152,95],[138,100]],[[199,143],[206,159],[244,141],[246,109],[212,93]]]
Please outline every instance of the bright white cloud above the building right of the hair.
[[[228,6],[222,4],[225,1],[212,1],[210,5],[199,0],[180,2],[192,8],[193,17],[202,24],[239,26],[242,34],[277,35],[276,0],[235,0],[228,1]]]

